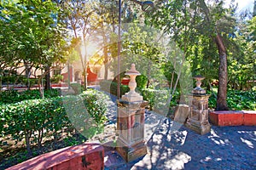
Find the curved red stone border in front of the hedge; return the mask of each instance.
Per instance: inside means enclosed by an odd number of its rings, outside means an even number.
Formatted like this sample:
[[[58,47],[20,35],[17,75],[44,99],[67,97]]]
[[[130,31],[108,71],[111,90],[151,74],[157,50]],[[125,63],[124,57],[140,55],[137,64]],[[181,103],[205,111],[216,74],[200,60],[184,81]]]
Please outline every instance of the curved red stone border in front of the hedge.
[[[104,169],[104,148],[100,144],[79,144],[23,161],[7,170],[98,170]]]

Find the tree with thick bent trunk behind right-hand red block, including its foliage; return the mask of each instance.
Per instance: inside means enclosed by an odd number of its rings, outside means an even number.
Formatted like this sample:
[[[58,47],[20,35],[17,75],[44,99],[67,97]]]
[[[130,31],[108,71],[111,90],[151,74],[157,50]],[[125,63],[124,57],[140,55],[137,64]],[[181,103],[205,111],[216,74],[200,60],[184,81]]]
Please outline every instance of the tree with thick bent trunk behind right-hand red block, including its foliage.
[[[195,61],[192,72],[212,75],[206,70],[212,65],[211,59],[216,60],[214,54],[218,50],[219,86],[216,110],[228,110],[227,54],[232,42],[230,35],[236,26],[230,10],[223,7],[222,1],[205,3],[204,0],[165,1],[159,3],[158,7],[151,23],[164,28],[183,50],[186,59]],[[215,71],[214,67],[211,69]]]

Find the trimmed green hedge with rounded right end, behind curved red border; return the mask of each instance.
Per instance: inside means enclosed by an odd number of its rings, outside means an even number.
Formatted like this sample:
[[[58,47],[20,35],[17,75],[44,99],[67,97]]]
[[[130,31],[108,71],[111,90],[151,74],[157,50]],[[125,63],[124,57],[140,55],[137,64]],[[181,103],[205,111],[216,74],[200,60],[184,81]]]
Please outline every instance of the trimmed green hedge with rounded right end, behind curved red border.
[[[107,120],[106,97],[101,92],[88,90],[77,96],[0,105],[0,134],[15,141],[25,139],[29,155],[32,144],[40,148],[44,138],[56,138],[63,127],[76,127],[90,138],[100,132]]]

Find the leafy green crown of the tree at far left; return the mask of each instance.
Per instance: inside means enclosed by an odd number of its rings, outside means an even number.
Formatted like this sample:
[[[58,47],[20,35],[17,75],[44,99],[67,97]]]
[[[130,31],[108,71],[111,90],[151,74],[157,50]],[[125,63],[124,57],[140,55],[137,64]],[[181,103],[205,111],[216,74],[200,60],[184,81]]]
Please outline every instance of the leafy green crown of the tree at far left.
[[[45,69],[65,61],[66,32],[55,3],[23,0],[3,3],[1,8],[0,30],[4,36],[0,45],[5,66],[23,63],[29,73],[32,67]]]

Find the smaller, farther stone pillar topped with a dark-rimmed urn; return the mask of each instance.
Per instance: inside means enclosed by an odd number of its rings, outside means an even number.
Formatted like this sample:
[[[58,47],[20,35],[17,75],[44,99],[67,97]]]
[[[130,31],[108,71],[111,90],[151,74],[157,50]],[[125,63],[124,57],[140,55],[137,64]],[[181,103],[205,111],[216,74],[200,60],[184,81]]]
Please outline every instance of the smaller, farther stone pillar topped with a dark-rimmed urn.
[[[210,95],[206,94],[206,90],[201,88],[201,80],[204,77],[194,77],[196,88],[189,95],[189,117],[185,126],[191,128],[196,133],[205,134],[211,131],[211,125],[208,121],[208,99]]]

